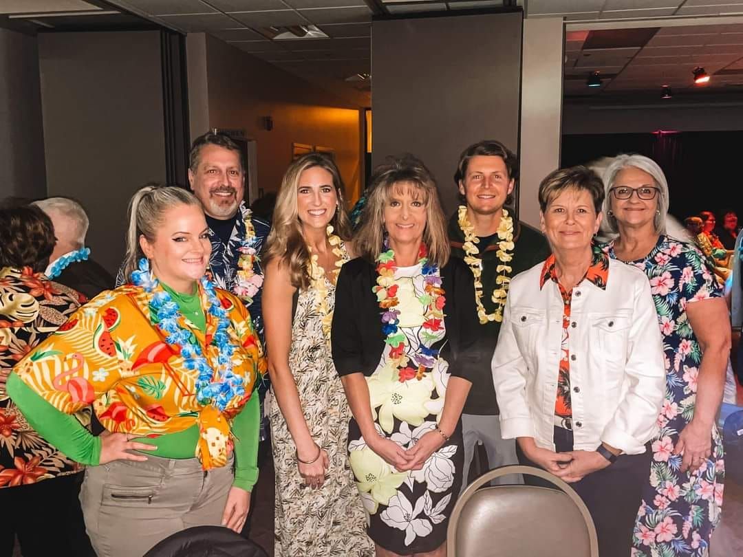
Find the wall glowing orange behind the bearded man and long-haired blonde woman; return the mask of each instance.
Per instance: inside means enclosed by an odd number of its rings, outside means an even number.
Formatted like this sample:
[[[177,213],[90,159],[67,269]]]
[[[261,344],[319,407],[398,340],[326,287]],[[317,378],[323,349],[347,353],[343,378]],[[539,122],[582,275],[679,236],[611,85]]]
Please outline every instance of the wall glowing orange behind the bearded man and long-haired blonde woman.
[[[291,144],[306,143],[335,149],[347,197],[358,198],[363,176],[358,107],[212,36],[206,37],[206,48],[209,126],[244,129],[256,140],[259,188],[277,191],[291,163]],[[192,104],[191,111],[204,114],[204,107]],[[272,131],[262,126],[266,116],[273,118]]]

